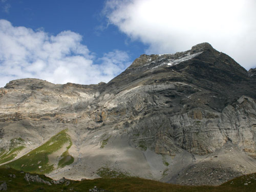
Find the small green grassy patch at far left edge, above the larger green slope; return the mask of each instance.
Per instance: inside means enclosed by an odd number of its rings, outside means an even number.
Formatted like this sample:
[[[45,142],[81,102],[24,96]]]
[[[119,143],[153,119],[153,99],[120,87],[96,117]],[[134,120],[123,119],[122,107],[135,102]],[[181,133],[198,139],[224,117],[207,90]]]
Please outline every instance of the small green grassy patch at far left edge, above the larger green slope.
[[[10,140],[9,150],[0,150],[0,164],[13,160],[19,151],[25,148],[25,141],[22,138],[13,138]]]

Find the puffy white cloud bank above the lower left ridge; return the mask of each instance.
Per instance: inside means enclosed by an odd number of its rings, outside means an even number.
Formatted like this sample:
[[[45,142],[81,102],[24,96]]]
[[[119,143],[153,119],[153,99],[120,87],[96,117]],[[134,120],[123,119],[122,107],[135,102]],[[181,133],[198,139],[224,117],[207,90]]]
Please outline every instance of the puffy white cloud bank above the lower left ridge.
[[[0,87],[28,77],[53,83],[108,82],[130,64],[127,53],[119,50],[97,59],[81,40],[71,31],[53,36],[0,20]]]

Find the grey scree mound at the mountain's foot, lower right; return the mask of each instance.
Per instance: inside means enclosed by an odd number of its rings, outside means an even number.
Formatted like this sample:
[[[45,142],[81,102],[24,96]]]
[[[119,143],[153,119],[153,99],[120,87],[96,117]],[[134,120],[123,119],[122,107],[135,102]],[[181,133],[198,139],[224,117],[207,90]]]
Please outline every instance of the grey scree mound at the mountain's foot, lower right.
[[[255,160],[241,152],[236,145],[226,143],[216,152],[195,157],[189,164],[168,182],[184,185],[220,185],[255,170]]]

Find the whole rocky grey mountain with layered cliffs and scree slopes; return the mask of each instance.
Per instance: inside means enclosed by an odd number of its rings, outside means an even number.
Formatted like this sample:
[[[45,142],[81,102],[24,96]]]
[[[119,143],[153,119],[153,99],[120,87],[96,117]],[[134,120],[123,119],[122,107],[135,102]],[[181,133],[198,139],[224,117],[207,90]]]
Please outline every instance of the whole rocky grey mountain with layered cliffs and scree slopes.
[[[256,72],[208,43],[141,55],[108,83],[0,89],[0,163],[59,179],[218,185],[256,172]]]

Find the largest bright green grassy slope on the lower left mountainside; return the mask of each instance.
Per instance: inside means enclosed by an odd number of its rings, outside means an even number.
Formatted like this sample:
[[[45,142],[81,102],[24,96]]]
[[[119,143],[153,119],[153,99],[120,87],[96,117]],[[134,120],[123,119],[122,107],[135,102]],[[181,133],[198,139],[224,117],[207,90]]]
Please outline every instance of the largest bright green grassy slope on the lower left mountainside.
[[[60,150],[60,148],[66,143],[69,143],[67,151],[65,151],[61,155],[62,158],[60,159],[60,162],[58,164],[59,166],[63,167],[67,164],[73,163],[74,158],[68,153],[68,150],[72,145],[72,141],[66,131],[67,130],[63,130],[59,132],[55,136],[51,137],[46,143],[35,148],[33,151],[29,152],[23,157],[20,157],[19,159],[16,159],[15,161],[12,161],[8,164],[5,164],[4,166],[12,167],[17,170],[24,170],[25,172],[29,173],[50,173],[54,169],[54,165],[49,164],[48,156]]]

